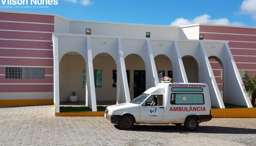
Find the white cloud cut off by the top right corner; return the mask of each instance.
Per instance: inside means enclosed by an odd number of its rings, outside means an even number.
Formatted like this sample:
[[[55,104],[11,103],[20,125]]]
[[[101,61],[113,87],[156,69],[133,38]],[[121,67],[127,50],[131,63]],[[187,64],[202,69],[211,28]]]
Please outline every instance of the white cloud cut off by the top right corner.
[[[256,19],[256,0],[244,0],[240,9],[242,14],[252,15]]]

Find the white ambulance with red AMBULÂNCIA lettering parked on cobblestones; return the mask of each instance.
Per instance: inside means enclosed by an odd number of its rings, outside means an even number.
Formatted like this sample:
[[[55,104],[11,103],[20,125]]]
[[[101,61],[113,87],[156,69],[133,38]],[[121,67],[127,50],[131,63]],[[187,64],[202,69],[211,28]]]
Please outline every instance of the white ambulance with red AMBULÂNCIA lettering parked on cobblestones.
[[[163,77],[168,79],[168,77]],[[123,130],[134,124],[184,124],[189,131],[212,119],[207,84],[161,82],[133,99],[111,105],[105,118]]]

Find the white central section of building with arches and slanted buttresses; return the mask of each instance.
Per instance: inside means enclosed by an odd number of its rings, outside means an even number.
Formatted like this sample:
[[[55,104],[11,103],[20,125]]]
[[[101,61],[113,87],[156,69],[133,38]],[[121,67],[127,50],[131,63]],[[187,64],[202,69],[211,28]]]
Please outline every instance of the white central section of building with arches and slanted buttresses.
[[[96,101],[129,102],[156,86],[163,74],[173,82],[208,84],[212,106],[225,108],[210,58],[222,64],[224,76],[228,74],[223,78],[225,103],[252,107],[228,42],[199,40],[199,26],[73,21],[59,16],[54,23],[56,112],[72,91],[93,111]],[[81,84],[83,69],[86,88]]]

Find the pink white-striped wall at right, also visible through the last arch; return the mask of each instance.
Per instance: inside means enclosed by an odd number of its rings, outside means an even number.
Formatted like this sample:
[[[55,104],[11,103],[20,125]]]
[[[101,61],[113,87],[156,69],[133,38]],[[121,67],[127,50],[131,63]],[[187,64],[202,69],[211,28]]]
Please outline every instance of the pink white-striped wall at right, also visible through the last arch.
[[[200,34],[204,35],[205,40],[229,41],[229,47],[235,62],[251,63],[251,64],[236,63],[238,70],[248,70],[247,71],[248,75],[252,75],[253,73],[256,73],[256,28],[200,25],[199,31],[200,31]],[[207,32],[211,32],[211,33],[207,33]],[[218,33],[221,33],[221,34],[218,34]],[[242,34],[242,35],[238,35],[238,34]],[[232,41],[236,41],[236,42],[232,42]],[[219,64],[211,63],[211,66],[212,66],[214,75],[221,76],[220,70],[214,70],[214,69],[222,69],[219,66]],[[217,84],[222,84],[221,78],[215,77],[215,79],[217,81]],[[218,85],[218,87],[220,90],[222,90],[222,85]]]

